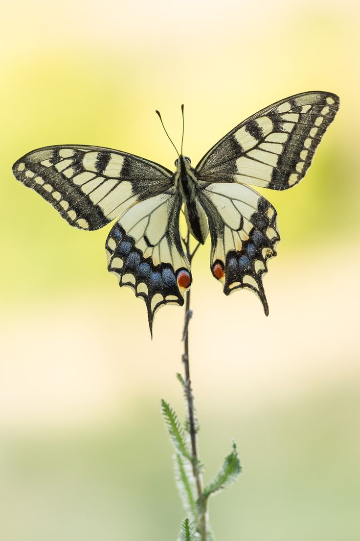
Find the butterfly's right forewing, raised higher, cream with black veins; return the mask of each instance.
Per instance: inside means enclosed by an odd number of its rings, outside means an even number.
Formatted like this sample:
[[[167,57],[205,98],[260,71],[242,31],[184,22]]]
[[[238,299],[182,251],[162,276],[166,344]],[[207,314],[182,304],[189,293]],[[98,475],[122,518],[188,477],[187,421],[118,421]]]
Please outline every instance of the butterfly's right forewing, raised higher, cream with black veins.
[[[208,182],[239,182],[285,190],[305,175],[339,98],[305,92],[273,103],[241,122],[196,166]]]

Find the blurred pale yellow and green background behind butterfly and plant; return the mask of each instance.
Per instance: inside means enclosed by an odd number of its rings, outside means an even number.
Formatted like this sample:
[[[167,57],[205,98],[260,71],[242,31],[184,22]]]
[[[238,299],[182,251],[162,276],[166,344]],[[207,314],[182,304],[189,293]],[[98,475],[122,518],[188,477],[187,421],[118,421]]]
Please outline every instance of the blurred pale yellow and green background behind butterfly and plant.
[[[235,124],[306,90],[341,107],[305,180],[267,193],[282,241],[264,286],[226,298],[194,260],[191,366],[210,504],[226,541],[358,541],[358,2],[15,0],[0,22],[2,541],[176,539],[184,516],[160,397],[184,412],[183,312],[106,271],[107,230],[70,228],[11,174],[31,149],[119,148],[196,164]],[[264,192],[265,193],[265,192]]]

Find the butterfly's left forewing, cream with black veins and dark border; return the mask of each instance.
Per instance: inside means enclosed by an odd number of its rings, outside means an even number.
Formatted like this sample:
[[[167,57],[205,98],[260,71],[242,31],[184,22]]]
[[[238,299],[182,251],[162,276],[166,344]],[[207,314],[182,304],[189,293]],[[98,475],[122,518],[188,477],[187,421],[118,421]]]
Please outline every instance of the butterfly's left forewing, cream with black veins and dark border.
[[[171,171],[158,163],[85,145],[33,150],[12,171],[79,229],[104,227],[133,204],[172,186]]]

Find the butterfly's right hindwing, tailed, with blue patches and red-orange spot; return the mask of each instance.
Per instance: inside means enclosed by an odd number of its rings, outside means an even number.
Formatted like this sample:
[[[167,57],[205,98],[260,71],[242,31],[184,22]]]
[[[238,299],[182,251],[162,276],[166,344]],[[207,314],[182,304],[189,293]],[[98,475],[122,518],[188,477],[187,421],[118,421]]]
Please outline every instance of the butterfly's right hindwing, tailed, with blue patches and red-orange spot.
[[[262,275],[267,272],[267,260],[276,255],[280,240],[276,210],[242,184],[208,184],[199,198],[208,216],[213,275],[222,282],[226,295],[239,288],[254,291],[268,315]]]

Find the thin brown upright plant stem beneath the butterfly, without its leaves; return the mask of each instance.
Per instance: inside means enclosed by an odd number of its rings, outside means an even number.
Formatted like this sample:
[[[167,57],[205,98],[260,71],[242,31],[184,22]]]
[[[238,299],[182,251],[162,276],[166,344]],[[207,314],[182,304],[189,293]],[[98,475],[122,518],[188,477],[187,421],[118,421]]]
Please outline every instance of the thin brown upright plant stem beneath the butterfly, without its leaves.
[[[187,258],[189,260],[189,263],[191,264],[192,259],[199,245],[196,246],[194,251],[191,253],[189,237],[190,235],[188,233],[186,241],[185,241],[185,246],[186,246]],[[196,442],[196,426],[195,426],[195,415],[194,415],[194,396],[193,396],[193,391],[191,388],[191,379],[190,379],[189,321],[191,320],[192,315],[193,315],[190,309],[190,293],[191,293],[191,290],[188,289],[188,291],[186,292],[186,302],[185,302],[184,332],[182,334],[182,339],[184,340],[184,353],[182,354],[182,362],[185,368],[186,401],[187,401],[188,413],[189,413],[189,433],[190,433],[190,438],[191,438],[192,454],[194,458],[194,461],[192,463],[192,470],[193,470],[193,476],[196,483],[196,490],[198,491],[198,501],[199,502],[203,501],[201,509],[199,510],[199,529],[200,529],[201,541],[207,541],[206,500],[203,500],[203,498],[201,498],[203,487],[202,487],[201,473],[197,465],[198,464],[198,449],[196,447],[197,442]]]

